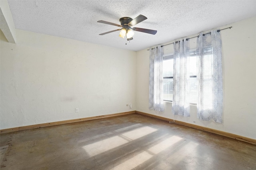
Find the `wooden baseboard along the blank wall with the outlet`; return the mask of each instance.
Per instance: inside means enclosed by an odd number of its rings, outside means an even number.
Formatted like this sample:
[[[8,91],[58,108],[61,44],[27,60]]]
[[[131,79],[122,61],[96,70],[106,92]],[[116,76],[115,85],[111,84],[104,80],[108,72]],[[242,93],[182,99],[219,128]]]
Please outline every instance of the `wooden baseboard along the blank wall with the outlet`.
[[[42,124],[37,124],[37,125],[28,125],[28,126],[22,126],[22,127],[14,127],[14,128],[9,128],[9,129],[1,129],[0,133],[2,134],[2,133],[8,133],[8,132],[23,131],[23,130],[28,130],[28,129],[40,128],[40,127],[48,127],[48,126],[62,125],[62,124],[67,124],[67,123],[75,123],[75,122],[80,122],[80,121],[102,119],[102,118],[106,118],[106,117],[128,115],[128,114],[132,114],[132,113],[135,113],[135,111],[114,113],[114,114],[94,116],[94,117],[85,117],[85,118],[65,120],[65,121],[56,121],[56,122],[42,123]]]

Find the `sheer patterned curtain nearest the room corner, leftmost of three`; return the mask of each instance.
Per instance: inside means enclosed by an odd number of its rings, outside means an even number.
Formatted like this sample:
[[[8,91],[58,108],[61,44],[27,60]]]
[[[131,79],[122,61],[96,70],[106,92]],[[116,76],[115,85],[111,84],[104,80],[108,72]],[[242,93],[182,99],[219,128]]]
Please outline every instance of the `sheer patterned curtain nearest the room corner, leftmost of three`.
[[[164,111],[163,89],[163,47],[150,48],[149,64],[149,109]]]

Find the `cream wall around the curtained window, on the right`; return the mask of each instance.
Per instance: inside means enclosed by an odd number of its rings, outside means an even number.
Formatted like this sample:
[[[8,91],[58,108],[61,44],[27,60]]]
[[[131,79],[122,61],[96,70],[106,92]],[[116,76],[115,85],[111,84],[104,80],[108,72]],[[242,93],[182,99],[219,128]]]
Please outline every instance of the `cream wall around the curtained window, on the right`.
[[[136,110],[256,139],[256,17],[220,29],[230,26],[231,29],[221,31],[224,86],[222,124],[200,121],[196,106],[192,105],[190,117],[174,117],[171,102],[164,102],[163,112],[149,110],[149,51],[146,49],[137,52]],[[190,43],[190,47],[195,47],[196,38],[190,39]],[[172,49],[172,45],[166,45],[164,53],[170,53]]]

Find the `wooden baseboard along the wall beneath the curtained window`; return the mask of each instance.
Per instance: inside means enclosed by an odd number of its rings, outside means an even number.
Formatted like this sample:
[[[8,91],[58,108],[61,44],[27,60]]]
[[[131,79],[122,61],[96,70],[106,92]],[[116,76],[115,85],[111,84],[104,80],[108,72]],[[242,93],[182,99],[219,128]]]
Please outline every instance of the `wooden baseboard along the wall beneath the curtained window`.
[[[144,112],[141,112],[141,111],[136,111],[136,113],[138,113],[140,115],[146,115],[146,116],[149,116],[149,117],[154,117],[156,119],[161,119],[161,120],[164,120],[164,121],[169,121],[169,122],[174,121],[173,119],[168,119],[166,117],[160,117],[160,116],[157,116],[157,115],[152,115],[152,114],[144,113]],[[248,143],[252,143],[252,144],[256,145],[256,139],[243,137],[243,136],[240,136],[240,135],[235,135],[235,134],[224,132],[224,131],[219,131],[219,130],[211,129],[211,128],[208,128],[208,127],[193,125],[193,124],[190,124],[190,123],[177,121],[177,120],[175,120],[175,122],[173,122],[173,123],[188,126],[188,127],[192,127],[192,128],[195,128],[195,129],[200,129],[200,130],[203,130],[203,131],[215,133],[215,134],[218,134],[218,135],[222,135],[222,136],[225,136],[225,137],[230,137],[230,138],[233,138],[233,139],[237,139],[237,140],[240,140],[240,141],[244,141],[244,142],[248,142]]]

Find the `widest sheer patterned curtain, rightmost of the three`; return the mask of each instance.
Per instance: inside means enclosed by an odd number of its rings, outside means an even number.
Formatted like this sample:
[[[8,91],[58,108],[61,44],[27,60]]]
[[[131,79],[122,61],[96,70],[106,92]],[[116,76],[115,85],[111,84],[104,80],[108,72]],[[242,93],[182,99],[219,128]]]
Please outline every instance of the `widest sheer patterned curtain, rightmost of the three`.
[[[200,33],[197,40],[198,103],[197,116],[201,120],[213,119],[222,123],[222,42],[220,31]]]

